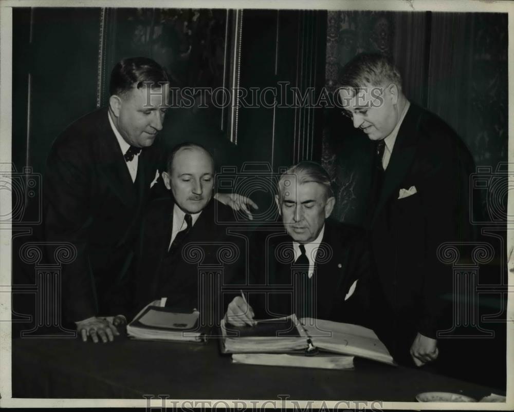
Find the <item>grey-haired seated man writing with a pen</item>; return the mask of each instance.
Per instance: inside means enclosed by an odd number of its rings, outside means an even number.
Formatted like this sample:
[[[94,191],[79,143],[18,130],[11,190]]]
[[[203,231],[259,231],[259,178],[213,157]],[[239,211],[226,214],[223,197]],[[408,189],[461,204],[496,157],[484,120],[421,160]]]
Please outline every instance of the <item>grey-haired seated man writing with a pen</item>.
[[[327,172],[315,162],[300,162],[281,176],[278,193],[282,230],[256,231],[250,253],[253,286],[262,290],[249,292],[249,306],[234,298],[227,321],[252,325],[255,316],[295,313],[359,323],[364,302],[350,297],[368,259],[358,230],[329,219],[335,198]]]

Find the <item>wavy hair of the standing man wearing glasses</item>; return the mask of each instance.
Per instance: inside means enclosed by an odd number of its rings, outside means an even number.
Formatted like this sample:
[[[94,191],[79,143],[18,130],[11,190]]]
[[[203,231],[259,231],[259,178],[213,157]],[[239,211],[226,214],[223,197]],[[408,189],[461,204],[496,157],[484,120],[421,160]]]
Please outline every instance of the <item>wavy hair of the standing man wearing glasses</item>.
[[[372,86],[394,83],[401,89],[401,75],[393,62],[383,54],[357,54],[342,68],[339,84],[357,89],[364,87],[366,83]]]

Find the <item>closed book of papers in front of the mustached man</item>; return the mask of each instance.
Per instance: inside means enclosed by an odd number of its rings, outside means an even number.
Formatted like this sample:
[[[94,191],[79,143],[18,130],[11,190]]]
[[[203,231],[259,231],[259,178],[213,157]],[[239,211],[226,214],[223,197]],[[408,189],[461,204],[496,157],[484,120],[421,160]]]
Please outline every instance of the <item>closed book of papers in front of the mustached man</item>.
[[[164,307],[156,300],[146,305],[127,325],[132,339],[205,342],[206,330],[199,327],[200,312]]]

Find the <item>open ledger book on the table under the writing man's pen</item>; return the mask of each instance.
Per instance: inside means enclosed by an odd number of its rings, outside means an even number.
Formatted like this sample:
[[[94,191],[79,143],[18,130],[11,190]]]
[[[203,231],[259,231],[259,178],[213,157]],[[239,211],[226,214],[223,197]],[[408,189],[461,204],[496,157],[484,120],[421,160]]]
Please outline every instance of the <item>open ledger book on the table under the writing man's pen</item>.
[[[222,352],[234,354],[232,360],[235,363],[346,369],[353,367],[353,357],[357,356],[395,365],[375,332],[363,326],[310,318],[298,321],[296,315],[290,315],[258,321],[253,327],[233,326],[224,319],[221,329]],[[328,354],[311,357],[318,350]],[[337,359],[329,354],[344,357]],[[318,360],[309,359],[318,357]]]

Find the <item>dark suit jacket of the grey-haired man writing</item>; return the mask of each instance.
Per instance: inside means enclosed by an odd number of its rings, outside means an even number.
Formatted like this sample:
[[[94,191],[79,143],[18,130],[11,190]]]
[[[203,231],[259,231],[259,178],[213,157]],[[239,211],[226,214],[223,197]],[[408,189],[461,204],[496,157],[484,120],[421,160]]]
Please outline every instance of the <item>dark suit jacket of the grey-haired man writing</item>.
[[[250,268],[253,289],[258,291],[251,292],[248,297],[256,319],[288,316],[295,311],[291,292],[293,256],[292,239],[284,230],[256,232],[250,253]],[[317,288],[314,296],[315,317],[336,322],[364,323],[363,315],[369,302],[363,293],[362,283],[368,282],[368,272],[369,255],[364,247],[363,233],[332,219],[325,220],[325,231],[312,278],[316,280]],[[357,279],[359,282],[354,294],[345,301],[346,294]]]

